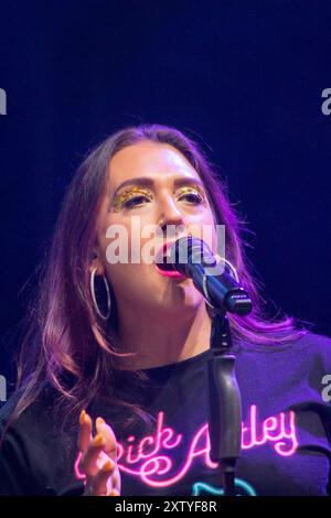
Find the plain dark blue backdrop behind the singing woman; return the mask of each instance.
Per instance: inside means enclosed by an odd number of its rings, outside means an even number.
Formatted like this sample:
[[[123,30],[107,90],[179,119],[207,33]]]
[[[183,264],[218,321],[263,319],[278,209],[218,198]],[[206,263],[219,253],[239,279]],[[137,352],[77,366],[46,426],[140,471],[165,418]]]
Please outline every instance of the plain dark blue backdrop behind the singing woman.
[[[139,122],[205,143],[266,295],[331,335],[330,1],[17,0],[0,25],[0,374],[75,168]]]

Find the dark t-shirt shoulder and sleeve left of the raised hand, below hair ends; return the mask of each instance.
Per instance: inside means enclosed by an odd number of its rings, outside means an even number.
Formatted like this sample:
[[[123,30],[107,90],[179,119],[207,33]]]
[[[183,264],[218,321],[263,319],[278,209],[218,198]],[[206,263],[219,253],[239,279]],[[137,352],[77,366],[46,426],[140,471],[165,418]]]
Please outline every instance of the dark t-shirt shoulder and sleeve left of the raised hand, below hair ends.
[[[15,418],[19,398],[0,409],[0,495],[61,494],[73,483],[76,438],[62,430],[49,392]]]

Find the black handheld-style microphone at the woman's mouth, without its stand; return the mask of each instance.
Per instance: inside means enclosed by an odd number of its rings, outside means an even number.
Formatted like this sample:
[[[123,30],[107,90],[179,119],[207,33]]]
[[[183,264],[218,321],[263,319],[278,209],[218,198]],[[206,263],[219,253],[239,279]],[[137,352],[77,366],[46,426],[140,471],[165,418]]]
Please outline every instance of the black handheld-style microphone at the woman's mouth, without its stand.
[[[193,280],[195,288],[214,309],[241,316],[250,313],[252,300],[244,288],[234,279],[227,262],[224,260],[223,273],[211,273],[213,271],[211,267],[215,267],[217,270],[220,263],[205,241],[191,236],[181,237],[169,248],[168,258],[177,271]]]

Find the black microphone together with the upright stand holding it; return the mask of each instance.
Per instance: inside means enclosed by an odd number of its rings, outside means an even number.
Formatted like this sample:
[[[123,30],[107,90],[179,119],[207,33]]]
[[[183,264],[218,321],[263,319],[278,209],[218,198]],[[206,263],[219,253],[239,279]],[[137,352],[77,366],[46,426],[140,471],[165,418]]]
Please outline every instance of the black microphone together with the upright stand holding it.
[[[215,266],[216,259],[201,239],[192,236],[178,239],[170,257],[174,269],[193,280],[211,310],[212,357],[206,366],[211,460],[220,464],[224,494],[235,496],[235,468],[242,449],[242,398],[226,311],[247,315],[252,300],[239,285],[235,268],[225,258],[222,260],[231,274],[207,274],[205,268]]]

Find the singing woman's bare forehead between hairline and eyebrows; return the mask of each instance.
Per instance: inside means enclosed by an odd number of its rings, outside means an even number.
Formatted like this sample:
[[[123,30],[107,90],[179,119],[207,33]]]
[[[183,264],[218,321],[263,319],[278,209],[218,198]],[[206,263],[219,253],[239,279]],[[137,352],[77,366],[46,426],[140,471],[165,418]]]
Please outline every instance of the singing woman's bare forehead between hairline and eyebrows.
[[[139,176],[154,181],[181,176],[199,179],[195,169],[180,151],[157,142],[139,142],[118,151],[110,160],[108,175],[111,190]]]

